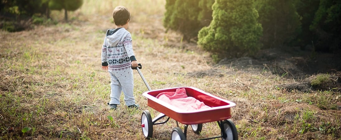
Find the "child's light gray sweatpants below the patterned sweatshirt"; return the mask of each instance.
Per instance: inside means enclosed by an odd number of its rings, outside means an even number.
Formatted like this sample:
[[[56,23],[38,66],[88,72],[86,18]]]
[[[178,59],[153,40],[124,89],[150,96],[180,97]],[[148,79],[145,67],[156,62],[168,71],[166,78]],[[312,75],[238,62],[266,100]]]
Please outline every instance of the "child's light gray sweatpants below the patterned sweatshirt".
[[[121,71],[108,71],[111,77],[111,94],[109,104],[120,104],[120,96],[123,91],[125,105],[135,104],[134,98],[134,77],[131,68]]]

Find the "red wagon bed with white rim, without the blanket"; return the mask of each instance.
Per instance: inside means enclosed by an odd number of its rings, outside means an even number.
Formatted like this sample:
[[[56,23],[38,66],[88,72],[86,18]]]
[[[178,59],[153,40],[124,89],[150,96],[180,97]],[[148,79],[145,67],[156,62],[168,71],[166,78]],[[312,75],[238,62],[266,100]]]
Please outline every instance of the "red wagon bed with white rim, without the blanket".
[[[156,96],[162,92],[175,92],[176,89],[184,88],[189,97],[203,102],[210,108],[198,110],[183,110],[171,104],[168,104]],[[160,90],[147,91],[142,94],[147,98],[147,105],[168,117],[182,123],[182,124],[200,124],[207,122],[214,122],[226,120],[231,118],[231,107],[236,106],[235,103],[219,98],[210,93],[206,93],[200,89],[193,87],[176,87]]]

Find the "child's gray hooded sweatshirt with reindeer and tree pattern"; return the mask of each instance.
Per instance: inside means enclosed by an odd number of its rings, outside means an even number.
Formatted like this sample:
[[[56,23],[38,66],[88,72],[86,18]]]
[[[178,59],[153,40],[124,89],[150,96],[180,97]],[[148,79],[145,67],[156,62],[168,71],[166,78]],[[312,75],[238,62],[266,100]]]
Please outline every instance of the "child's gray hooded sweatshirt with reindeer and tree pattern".
[[[109,66],[108,71],[121,71],[130,68],[134,60],[130,32],[124,28],[107,30],[102,46],[102,66]]]

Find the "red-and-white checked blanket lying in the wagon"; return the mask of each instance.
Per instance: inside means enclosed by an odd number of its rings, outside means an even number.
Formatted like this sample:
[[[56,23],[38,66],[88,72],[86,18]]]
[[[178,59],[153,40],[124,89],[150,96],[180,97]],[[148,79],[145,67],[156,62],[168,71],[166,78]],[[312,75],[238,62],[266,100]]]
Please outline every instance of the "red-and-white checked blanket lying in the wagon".
[[[209,106],[206,106],[203,102],[200,102],[196,98],[188,97],[184,88],[178,88],[175,92],[161,92],[156,96],[156,98],[183,110],[209,108]]]

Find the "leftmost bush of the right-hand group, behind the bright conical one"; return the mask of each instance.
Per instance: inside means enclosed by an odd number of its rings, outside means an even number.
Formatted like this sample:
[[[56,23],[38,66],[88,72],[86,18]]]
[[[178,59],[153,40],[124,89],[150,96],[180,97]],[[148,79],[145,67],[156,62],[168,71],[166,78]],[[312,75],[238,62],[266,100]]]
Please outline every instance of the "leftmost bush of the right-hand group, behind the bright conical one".
[[[163,26],[178,31],[185,40],[196,37],[211,20],[214,0],[166,0]]]

